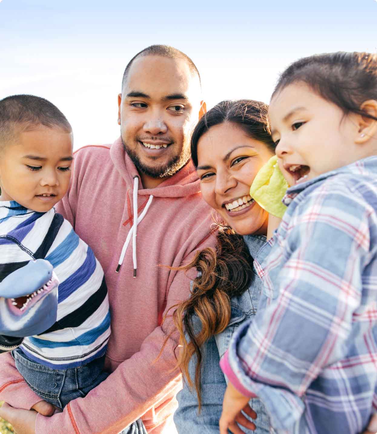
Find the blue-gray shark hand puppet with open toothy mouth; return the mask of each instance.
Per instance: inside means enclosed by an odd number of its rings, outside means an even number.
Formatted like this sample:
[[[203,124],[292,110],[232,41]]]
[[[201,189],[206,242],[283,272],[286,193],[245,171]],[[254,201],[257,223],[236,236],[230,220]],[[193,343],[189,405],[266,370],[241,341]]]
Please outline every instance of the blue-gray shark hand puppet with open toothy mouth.
[[[0,282],[0,352],[56,322],[59,280],[44,259],[31,260]]]

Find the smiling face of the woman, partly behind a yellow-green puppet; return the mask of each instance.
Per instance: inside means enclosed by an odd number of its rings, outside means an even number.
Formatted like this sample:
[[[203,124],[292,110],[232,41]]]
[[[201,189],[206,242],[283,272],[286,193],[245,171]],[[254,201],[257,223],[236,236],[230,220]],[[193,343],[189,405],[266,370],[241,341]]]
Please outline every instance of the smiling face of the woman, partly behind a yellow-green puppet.
[[[267,233],[268,213],[249,190],[272,155],[265,143],[230,122],[211,127],[198,141],[203,198],[240,235]]]

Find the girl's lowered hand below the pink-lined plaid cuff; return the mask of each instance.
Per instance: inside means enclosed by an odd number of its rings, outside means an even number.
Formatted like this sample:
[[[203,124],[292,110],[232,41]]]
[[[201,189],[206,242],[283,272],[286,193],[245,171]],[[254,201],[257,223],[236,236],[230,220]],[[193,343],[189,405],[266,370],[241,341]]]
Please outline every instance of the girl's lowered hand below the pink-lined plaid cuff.
[[[219,421],[220,434],[227,434],[228,429],[233,434],[244,434],[244,431],[238,427],[237,422],[246,428],[255,430],[255,425],[248,421],[241,413],[241,410],[255,419],[255,411],[250,412],[248,406],[249,399],[247,396],[242,395],[231,383],[229,382],[226,388],[224,401],[222,403],[222,415]]]

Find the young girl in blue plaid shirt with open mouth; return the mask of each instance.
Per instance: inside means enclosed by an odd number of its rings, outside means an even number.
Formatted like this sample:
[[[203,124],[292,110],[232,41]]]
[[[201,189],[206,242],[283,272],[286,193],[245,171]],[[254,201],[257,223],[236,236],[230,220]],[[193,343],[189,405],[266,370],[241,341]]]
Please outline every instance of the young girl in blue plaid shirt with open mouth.
[[[377,405],[377,55],[294,62],[268,116],[289,206],[222,358],[220,433],[252,396],[279,433],[360,433]]]

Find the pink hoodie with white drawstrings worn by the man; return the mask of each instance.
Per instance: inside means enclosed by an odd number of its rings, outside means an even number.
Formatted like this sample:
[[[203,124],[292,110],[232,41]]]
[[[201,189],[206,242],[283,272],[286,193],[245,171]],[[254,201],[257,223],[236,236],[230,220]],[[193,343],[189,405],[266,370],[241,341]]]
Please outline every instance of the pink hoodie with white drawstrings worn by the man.
[[[71,401],[51,418],[38,414],[36,434],[114,434],[142,417],[149,433],[175,433],[172,413],[181,376],[169,340],[157,359],[166,333],[162,318],[170,306],[189,296],[186,273],[159,266],[179,266],[195,250],[213,247],[211,209],[203,201],[191,162],[153,189],[137,192],[137,277],[133,278],[132,240],[116,273],[127,234],[133,224],[132,191],[136,168],[120,138],[110,147],[87,146],[75,154],[71,187],[57,207],[76,233],[92,247],[103,266],[109,288],[111,336],[107,369],[112,374],[85,398]],[[195,277],[192,270],[187,273]],[[175,335],[176,338],[176,335]],[[156,360],[157,359],[157,360]],[[0,357],[0,399],[29,409],[40,398],[14,368],[10,353]]]

